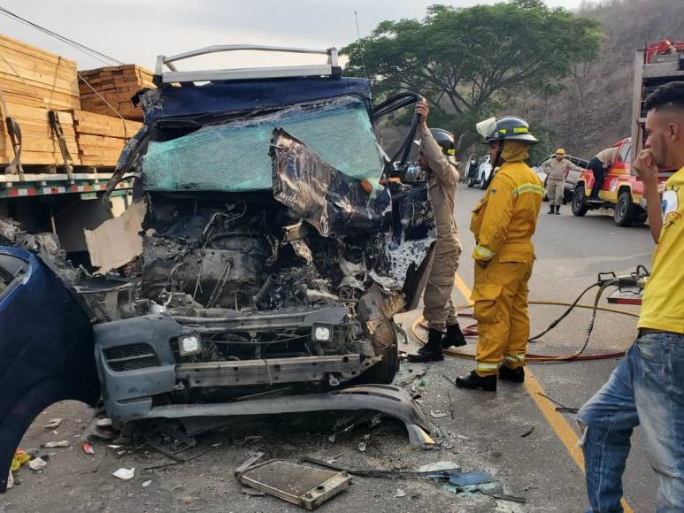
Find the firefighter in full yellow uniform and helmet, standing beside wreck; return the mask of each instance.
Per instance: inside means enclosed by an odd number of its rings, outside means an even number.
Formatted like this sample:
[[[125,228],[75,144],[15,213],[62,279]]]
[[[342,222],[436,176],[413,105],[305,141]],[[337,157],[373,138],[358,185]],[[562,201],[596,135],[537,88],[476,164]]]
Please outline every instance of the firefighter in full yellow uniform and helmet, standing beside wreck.
[[[477,246],[472,299],[478,322],[477,367],[457,387],[496,391],[497,376],[522,383],[530,326],[527,281],[532,275],[532,235],[544,188],[528,165],[537,140],[524,119],[506,116],[478,123],[491,161],[501,167],[473,211]]]

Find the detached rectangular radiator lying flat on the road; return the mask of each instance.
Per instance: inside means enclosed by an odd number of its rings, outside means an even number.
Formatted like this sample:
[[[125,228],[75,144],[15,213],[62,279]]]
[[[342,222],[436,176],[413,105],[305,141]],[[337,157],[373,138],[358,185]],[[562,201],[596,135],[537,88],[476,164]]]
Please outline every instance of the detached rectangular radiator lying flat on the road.
[[[345,472],[324,471],[283,460],[269,460],[243,471],[238,480],[305,509],[316,509],[350,486]]]

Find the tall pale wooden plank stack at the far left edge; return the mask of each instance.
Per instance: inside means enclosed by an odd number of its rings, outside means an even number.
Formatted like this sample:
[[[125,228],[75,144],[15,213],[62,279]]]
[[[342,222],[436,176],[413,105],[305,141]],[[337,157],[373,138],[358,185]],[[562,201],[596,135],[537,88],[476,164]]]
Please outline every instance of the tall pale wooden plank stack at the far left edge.
[[[64,163],[48,110],[80,109],[76,63],[0,34],[0,88],[4,98],[3,117],[19,123],[22,134],[22,163],[61,165]],[[58,114],[66,146],[78,156],[73,119]],[[12,161],[12,142],[4,122],[0,126],[0,165]]]

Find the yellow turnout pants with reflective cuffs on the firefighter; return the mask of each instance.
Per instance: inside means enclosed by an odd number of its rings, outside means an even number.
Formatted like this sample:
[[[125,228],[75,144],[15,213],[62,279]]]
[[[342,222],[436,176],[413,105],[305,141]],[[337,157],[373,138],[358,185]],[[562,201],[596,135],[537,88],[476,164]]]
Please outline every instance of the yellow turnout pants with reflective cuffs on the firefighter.
[[[480,376],[496,375],[502,363],[511,369],[525,365],[530,336],[527,281],[533,263],[531,242],[507,244],[486,267],[475,263],[471,298],[479,334],[475,370]]]

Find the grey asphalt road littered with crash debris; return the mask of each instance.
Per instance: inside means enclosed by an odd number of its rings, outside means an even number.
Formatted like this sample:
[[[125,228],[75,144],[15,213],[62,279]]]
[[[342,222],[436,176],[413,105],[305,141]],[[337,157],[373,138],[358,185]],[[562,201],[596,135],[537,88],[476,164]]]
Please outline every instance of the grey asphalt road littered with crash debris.
[[[481,195],[479,189],[461,188],[457,197],[457,222],[464,253],[459,275],[465,287],[473,284],[473,238],[467,231],[469,213]],[[569,302],[596,279],[598,272],[630,272],[637,264],[649,265],[653,243],[646,227],[619,228],[610,217],[589,213],[574,218],[569,206],[562,216],[547,216],[544,204],[534,237],[538,260],[530,283],[532,300]],[[457,302],[464,303],[464,288],[455,287]],[[588,298],[587,301],[589,301]],[[603,302],[605,304],[605,302]],[[531,307],[536,333],[562,311],[559,307]],[[634,311],[634,308],[632,309]],[[463,310],[467,313],[467,310]],[[418,312],[399,319],[411,331]],[[467,318],[463,319],[468,324]],[[563,324],[531,345],[530,351],[564,355],[578,348],[584,338],[588,311],[571,314]],[[588,347],[589,354],[624,350],[634,339],[635,319],[601,313]],[[473,351],[474,340],[466,350]],[[416,341],[401,345],[403,351],[418,348]],[[200,437],[183,457],[188,463],[161,469],[148,467],[171,460],[142,444],[107,448],[95,443],[95,455],[82,451],[80,433],[91,412],[75,402],[62,402],[39,416],[22,448],[35,448],[50,456],[41,473],[19,471],[20,485],[0,496],[0,511],[300,511],[273,497],[242,493],[233,469],[260,449],[265,457],[296,461],[315,456],[336,463],[374,469],[415,469],[448,461],[465,471],[489,471],[499,494],[526,498],[526,504],[484,494],[451,494],[441,484],[417,479],[355,478],[350,489],[324,504],[319,511],[583,511],[587,508],[584,479],[571,455],[576,427],[572,414],[557,414],[540,399],[543,392],[569,407],[579,407],[608,379],[616,359],[572,364],[533,364],[534,379],[525,386],[500,384],[496,394],[459,390],[450,383],[473,368],[473,362],[448,356],[431,365],[403,363],[396,382],[413,388],[422,408],[434,422],[434,450],[411,449],[403,426],[389,419],[375,427],[361,426],[350,433],[334,433],[333,422],[342,415],[298,415],[242,420],[229,429]],[[406,384],[417,371],[427,373]],[[57,430],[44,429],[52,417],[64,421]],[[526,436],[523,436],[526,435]],[[261,438],[248,438],[261,437]],[[44,449],[50,440],[68,440],[69,448]],[[365,451],[359,443],[365,443]],[[135,477],[112,477],[120,467],[135,468]],[[150,481],[150,483],[148,483]],[[143,486],[143,484],[147,486]],[[399,492],[401,490],[401,492]],[[626,501],[637,511],[654,509],[656,479],[639,430],[633,439],[625,479]]]

